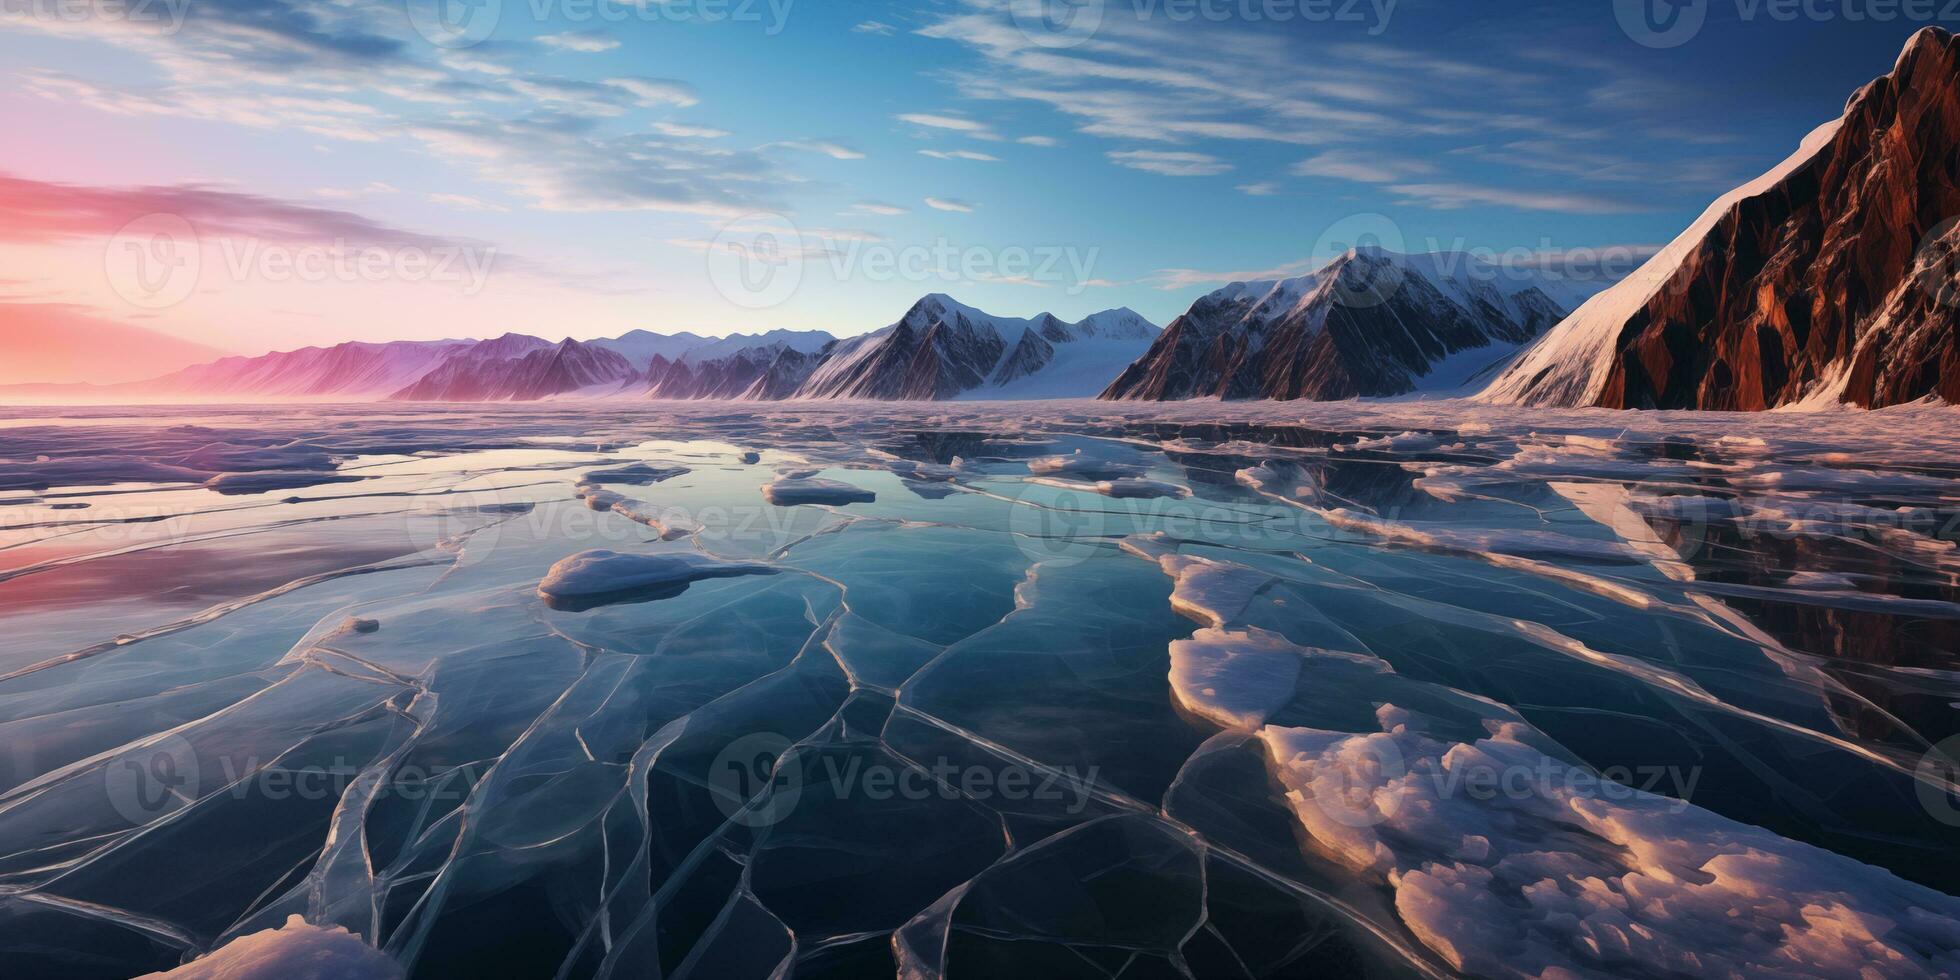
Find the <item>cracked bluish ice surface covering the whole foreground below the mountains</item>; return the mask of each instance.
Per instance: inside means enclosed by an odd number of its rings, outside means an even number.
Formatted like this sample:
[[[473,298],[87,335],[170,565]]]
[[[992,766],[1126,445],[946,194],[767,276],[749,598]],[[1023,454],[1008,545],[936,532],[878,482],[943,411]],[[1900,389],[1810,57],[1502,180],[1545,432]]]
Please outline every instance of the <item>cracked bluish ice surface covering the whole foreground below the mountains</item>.
[[[0,414],[0,976],[1960,972],[1960,412],[608,412]]]

